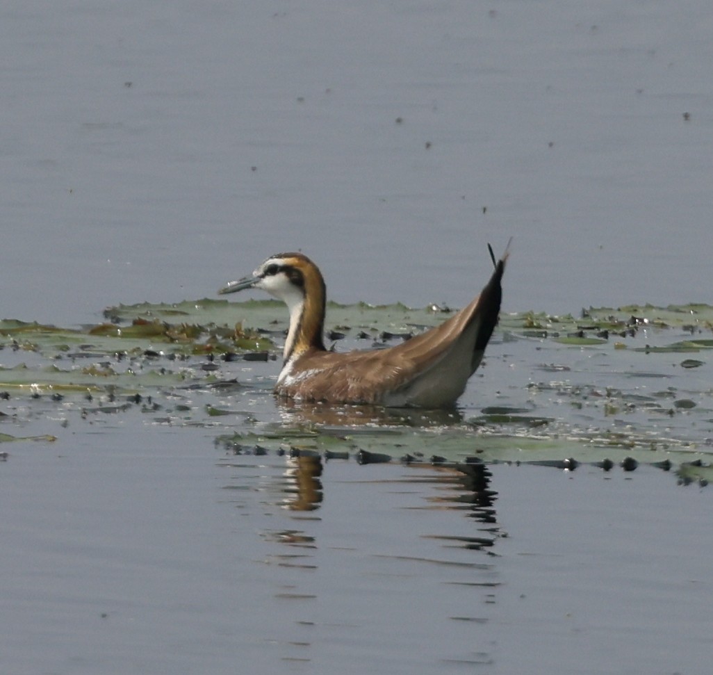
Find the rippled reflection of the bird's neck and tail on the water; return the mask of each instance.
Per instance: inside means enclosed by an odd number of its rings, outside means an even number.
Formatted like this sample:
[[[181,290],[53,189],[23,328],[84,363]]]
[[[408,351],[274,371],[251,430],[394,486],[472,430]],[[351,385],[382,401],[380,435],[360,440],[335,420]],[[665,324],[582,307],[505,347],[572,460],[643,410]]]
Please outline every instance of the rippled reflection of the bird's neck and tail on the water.
[[[451,619],[443,624],[449,640],[443,659],[460,661],[463,651],[470,659],[473,639],[481,637],[469,633],[459,641],[461,626],[490,621],[501,584],[491,556],[500,537],[491,471],[474,460],[364,467],[355,459],[353,448],[349,457],[329,460],[292,448],[267,459],[240,455],[232,465],[243,485],[246,479],[260,485],[237,494],[262,519],[258,532],[268,548],[261,579],[279,603],[273,628],[282,649],[292,654],[299,644],[299,658],[311,658],[314,633],[305,626],[317,626],[320,636],[354,629],[362,644],[376,648],[370,624],[394,611],[394,598],[411,599],[419,588],[433,594],[421,601],[426,609],[401,618],[426,636],[432,623],[424,617],[435,608],[440,619]],[[251,466],[260,471],[245,471]],[[366,618],[345,619],[345,607]],[[488,653],[482,639],[478,654]]]

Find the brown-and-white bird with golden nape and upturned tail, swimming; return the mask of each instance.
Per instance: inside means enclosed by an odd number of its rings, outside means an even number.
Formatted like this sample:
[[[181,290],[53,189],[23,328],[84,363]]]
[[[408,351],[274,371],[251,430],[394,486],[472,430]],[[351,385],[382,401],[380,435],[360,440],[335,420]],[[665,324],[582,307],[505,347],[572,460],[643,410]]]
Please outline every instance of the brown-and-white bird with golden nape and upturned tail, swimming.
[[[324,346],[327,287],[303,253],[277,253],[252,275],[232,281],[219,294],[260,288],[289,310],[279,399],[388,408],[452,408],[481,364],[498,323],[501,280],[510,244],[481,293],[440,325],[394,347],[334,352]]]

